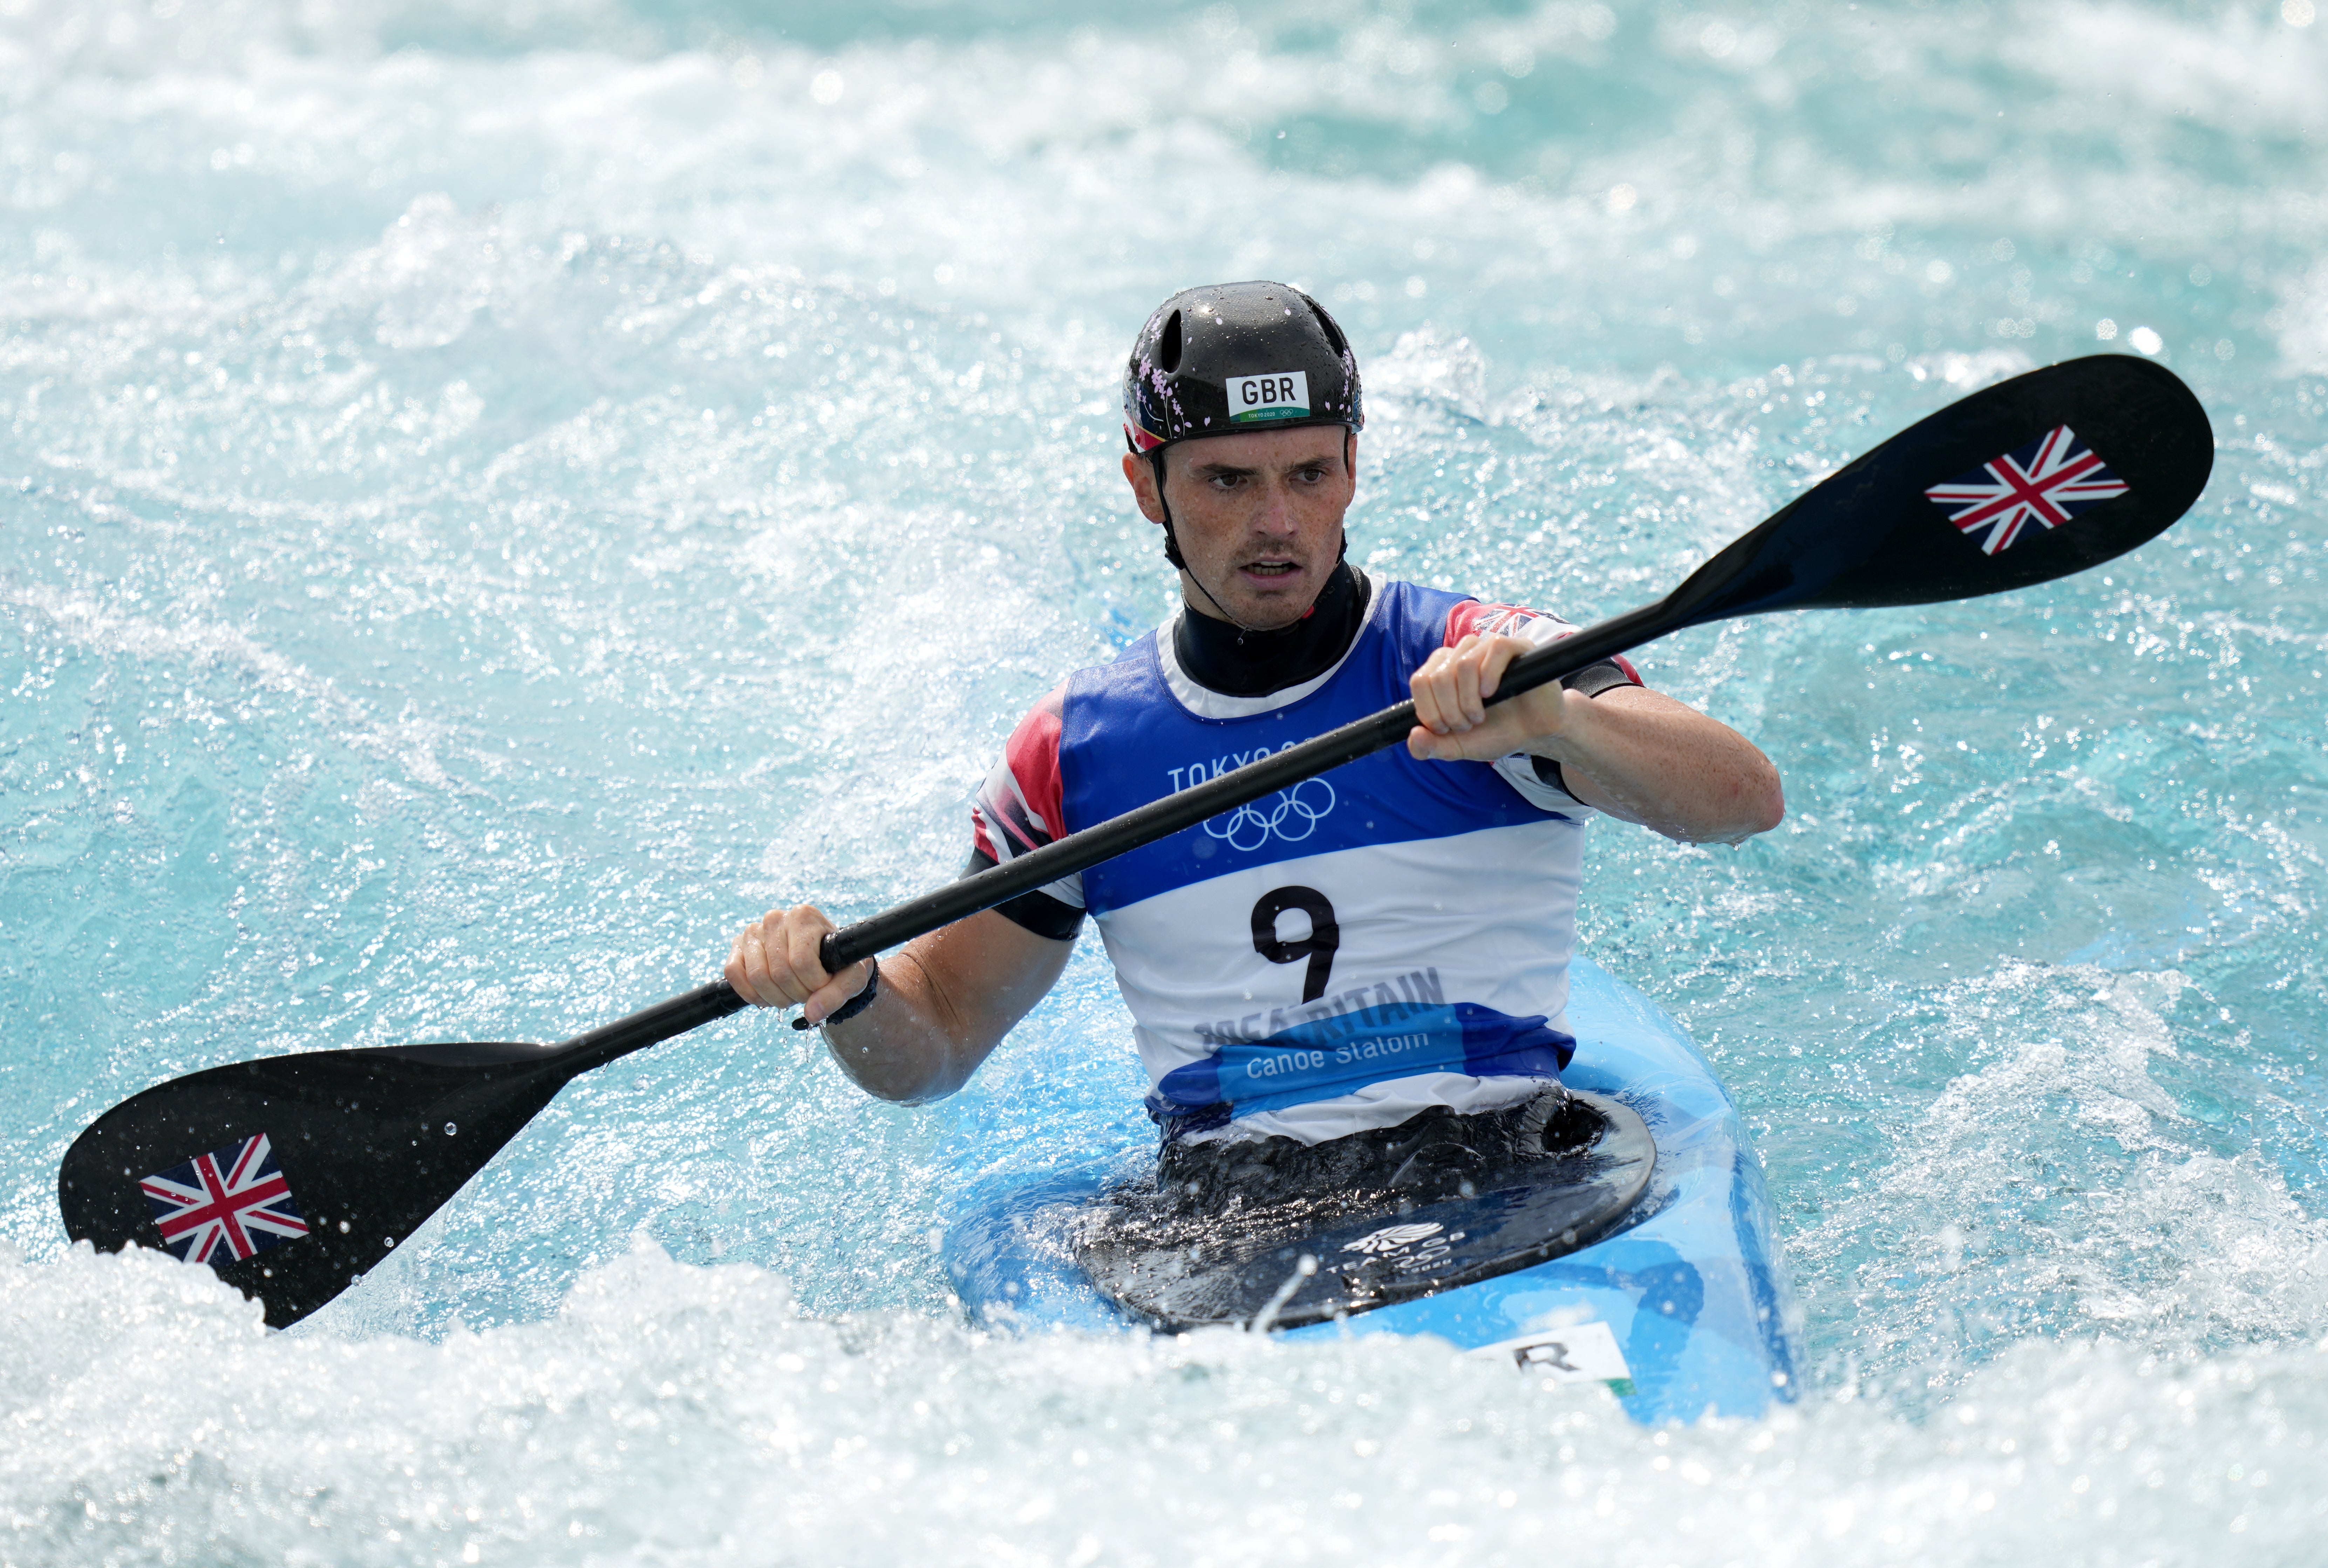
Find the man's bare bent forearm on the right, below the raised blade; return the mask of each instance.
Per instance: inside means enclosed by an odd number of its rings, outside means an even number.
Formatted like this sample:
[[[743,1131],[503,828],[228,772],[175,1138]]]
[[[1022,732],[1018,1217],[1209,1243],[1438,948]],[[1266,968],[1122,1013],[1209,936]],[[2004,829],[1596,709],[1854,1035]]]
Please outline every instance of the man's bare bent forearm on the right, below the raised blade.
[[[1737,844],[1786,817],[1779,770],[1720,719],[1639,686],[1567,707],[1529,751],[1557,761],[1585,805],[1688,844]]]

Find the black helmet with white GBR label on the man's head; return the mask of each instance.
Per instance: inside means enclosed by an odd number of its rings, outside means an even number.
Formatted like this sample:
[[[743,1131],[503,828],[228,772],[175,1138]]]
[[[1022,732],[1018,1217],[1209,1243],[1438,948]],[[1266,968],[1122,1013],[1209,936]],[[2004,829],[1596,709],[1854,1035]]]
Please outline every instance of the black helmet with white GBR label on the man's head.
[[[1124,440],[1367,423],[1357,356],[1325,305],[1285,284],[1211,284],[1157,305],[1124,368]]]

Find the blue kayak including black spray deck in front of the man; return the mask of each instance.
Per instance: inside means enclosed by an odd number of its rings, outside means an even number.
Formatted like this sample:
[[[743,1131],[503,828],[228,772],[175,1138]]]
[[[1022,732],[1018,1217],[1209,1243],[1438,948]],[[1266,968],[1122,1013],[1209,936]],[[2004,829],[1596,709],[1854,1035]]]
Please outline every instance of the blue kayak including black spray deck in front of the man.
[[[1476,1196],[1467,1184],[1462,1200],[1320,1221],[1299,1240],[1262,1235],[1227,1249],[1234,1261],[1192,1247],[1131,1268],[1092,1235],[1103,1193],[1152,1168],[1145,1119],[1124,1114],[1138,1089],[1064,1075],[1038,1121],[964,1107],[945,1270],[987,1326],[1436,1335],[1532,1375],[1604,1384],[1646,1424],[1793,1400],[1795,1305],[1737,1105],[1672,1017],[1583,958],[1569,1026],[1576,1059],[1562,1077],[1604,1138],[1557,1168],[1567,1184]],[[1222,1268],[1257,1284],[1208,1289]]]

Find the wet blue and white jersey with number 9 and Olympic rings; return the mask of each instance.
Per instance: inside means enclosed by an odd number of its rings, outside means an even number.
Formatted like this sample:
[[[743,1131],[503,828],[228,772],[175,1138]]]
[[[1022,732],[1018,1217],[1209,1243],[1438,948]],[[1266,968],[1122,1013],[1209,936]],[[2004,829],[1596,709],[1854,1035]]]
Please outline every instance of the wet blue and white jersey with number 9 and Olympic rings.
[[[1569,630],[1374,579],[1336,665],[1234,698],[1180,670],[1166,623],[1017,726],[973,807],[978,854],[1008,861],[1401,703],[1469,633]],[[1529,756],[1392,747],[1043,893],[1096,919],[1166,1140],[1322,1142],[1432,1105],[1495,1110],[1560,1075],[1590,817]]]

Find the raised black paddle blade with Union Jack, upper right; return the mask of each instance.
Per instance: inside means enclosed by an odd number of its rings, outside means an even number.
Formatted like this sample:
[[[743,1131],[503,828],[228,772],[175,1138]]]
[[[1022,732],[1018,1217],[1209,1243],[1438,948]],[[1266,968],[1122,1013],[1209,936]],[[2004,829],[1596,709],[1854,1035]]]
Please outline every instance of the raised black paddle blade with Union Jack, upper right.
[[[2025,589],[2165,533],[2212,468],[2207,412],[2172,370],[2077,358],[1909,426],[1706,561],[1660,610],[1697,626]]]

